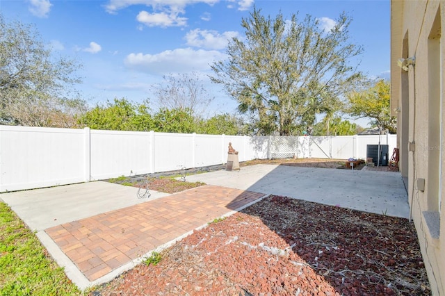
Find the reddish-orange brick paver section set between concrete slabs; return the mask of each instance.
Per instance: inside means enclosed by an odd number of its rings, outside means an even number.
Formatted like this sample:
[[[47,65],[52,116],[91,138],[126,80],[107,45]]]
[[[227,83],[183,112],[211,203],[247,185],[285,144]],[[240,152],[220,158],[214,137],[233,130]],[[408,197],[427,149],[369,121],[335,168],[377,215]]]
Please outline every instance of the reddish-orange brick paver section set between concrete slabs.
[[[90,281],[264,194],[202,186],[46,229]]]

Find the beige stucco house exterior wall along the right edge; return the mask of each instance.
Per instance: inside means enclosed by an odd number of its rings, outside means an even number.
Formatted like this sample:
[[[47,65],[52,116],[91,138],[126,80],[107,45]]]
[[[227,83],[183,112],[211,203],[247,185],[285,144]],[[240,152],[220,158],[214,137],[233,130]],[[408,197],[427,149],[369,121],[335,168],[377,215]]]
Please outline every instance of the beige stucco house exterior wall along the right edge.
[[[433,295],[445,295],[444,21],[445,1],[391,0],[391,111]]]

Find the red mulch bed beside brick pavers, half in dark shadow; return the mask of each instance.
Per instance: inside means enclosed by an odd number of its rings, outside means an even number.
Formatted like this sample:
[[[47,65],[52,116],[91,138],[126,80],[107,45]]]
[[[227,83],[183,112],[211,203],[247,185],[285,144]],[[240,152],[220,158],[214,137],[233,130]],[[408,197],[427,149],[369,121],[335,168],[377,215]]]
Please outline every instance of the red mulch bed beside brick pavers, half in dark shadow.
[[[430,295],[408,220],[271,196],[92,295]]]

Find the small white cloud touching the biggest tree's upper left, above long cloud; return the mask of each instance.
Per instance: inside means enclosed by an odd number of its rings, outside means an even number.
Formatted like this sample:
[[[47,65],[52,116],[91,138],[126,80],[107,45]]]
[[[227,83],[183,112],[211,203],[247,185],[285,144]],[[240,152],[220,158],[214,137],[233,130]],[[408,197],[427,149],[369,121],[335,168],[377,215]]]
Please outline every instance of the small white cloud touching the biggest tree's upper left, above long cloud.
[[[201,30],[199,28],[188,31],[186,34],[187,45],[192,47],[202,47],[205,49],[225,49],[227,43],[233,37],[237,37],[238,32],[227,31],[223,34],[212,30]]]

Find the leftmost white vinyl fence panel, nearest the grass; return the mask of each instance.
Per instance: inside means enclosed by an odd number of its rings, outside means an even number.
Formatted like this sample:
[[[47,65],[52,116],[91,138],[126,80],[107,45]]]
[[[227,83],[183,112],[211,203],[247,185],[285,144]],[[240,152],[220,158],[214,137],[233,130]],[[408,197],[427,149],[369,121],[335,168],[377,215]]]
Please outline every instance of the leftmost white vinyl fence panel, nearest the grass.
[[[85,132],[0,126],[0,192],[86,181]]]

